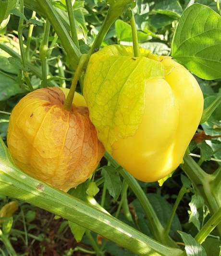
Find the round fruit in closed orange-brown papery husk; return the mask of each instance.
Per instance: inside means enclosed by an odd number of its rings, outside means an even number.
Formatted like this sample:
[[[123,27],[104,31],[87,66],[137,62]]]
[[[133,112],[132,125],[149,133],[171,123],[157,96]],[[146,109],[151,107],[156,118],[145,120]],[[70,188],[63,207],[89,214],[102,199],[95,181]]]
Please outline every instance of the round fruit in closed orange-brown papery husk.
[[[80,94],[75,98],[84,102]],[[28,93],[12,111],[7,143],[16,166],[67,192],[92,174],[104,147],[88,109],[73,104],[67,111],[64,100],[59,88]]]

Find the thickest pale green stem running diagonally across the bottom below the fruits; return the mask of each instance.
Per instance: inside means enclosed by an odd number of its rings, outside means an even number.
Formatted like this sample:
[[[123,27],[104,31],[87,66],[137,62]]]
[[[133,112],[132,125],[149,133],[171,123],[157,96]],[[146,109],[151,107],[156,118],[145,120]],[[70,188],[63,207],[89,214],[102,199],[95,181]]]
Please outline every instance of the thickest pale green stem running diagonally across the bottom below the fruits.
[[[11,156],[1,139],[0,194],[48,210],[98,233],[138,255],[146,256],[158,253],[166,256],[179,256],[183,252],[180,249],[162,245],[86,202],[26,175],[12,164]]]

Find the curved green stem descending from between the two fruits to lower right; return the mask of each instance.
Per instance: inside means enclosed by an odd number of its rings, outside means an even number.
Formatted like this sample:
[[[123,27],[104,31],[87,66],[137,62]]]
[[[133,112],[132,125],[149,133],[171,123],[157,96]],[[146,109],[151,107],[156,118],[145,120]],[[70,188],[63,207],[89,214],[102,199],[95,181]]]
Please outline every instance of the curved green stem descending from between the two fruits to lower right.
[[[108,153],[105,154],[105,157],[111,164],[118,168],[120,174],[123,176],[129,187],[135,193],[135,196],[139,200],[141,206],[144,209],[146,217],[149,221],[149,228],[155,239],[160,241],[161,243],[168,244],[170,246],[177,247],[177,244],[168,236],[165,235],[165,230],[162,227],[159,218],[157,217],[156,212],[153,209],[153,206],[150,204],[145,192],[142,190],[138,182],[134,177],[132,177],[127,171],[125,171],[122,167],[118,165],[118,163],[112,158],[112,156]]]

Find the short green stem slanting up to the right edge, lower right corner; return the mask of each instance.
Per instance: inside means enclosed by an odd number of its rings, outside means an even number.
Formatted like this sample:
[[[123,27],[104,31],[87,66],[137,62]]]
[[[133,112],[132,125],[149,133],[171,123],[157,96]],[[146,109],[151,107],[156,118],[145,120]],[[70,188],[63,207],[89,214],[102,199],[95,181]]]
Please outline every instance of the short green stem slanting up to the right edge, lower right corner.
[[[210,232],[221,222],[221,208],[213,214],[202,229],[197,233],[195,239],[198,243],[203,243]]]

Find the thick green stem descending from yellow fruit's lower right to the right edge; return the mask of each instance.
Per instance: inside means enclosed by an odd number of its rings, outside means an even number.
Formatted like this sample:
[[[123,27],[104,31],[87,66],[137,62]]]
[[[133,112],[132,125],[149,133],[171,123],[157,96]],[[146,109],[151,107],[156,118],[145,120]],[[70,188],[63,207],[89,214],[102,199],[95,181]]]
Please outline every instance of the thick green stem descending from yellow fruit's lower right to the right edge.
[[[221,187],[215,186],[214,175],[204,172],[187,154],[184,155],[184,164],[181,167],[192,181],[196,192],[204,198],[210,213],[214,214],[221,207]],[[217,226],[217,230],[221,236],[221,224]]]

